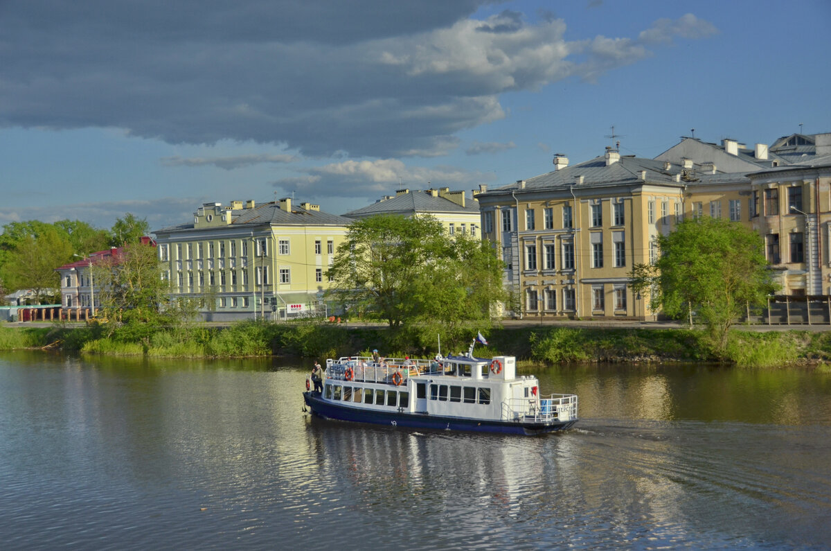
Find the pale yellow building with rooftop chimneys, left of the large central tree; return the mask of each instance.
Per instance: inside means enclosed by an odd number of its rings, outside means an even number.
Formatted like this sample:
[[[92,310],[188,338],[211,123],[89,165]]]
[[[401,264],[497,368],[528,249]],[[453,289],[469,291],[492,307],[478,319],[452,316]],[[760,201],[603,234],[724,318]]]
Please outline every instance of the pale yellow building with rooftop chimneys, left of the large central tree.
[[[204,299],[207,320],[326,312],[322,292],[351,220],[289,198],[205,203],[192,224],[155,231],[172,295]]]

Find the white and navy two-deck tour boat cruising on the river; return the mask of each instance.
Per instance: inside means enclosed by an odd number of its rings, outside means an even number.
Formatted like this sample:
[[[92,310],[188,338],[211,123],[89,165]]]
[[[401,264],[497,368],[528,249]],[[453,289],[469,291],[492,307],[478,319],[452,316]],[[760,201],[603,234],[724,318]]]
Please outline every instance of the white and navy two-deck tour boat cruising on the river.
[[[544,434],[577,422],[576,395],[543,397],[537,378],[516,376],[513,356],[435,360],[327,360],[322,391],[303,399],[324,419],[509,434]]]

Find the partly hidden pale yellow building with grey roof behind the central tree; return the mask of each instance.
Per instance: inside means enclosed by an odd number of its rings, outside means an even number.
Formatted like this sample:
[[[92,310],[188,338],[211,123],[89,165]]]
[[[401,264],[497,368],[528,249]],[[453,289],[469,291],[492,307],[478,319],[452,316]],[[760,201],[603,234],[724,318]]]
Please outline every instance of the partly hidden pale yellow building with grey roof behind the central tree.
[[[384,196],[369,206],[347,212],[347,218],[361,219],[376,215],[433,216],[450,235],[479,236],[479,191],[466,196],[465,191],[450,191],[449,187],[411,191],[401,189],[394,196]]]

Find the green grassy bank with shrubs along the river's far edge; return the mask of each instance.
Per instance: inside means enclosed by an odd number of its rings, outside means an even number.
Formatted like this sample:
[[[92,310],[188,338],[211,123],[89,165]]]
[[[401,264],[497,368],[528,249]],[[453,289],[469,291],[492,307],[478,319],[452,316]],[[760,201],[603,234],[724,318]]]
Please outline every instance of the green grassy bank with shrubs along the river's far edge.
[[[457,333],[455,339],[442,335],[445,354],[467,350],[470,331]],[[477,355],[514,355],[519,360],[552,365],[722,361],[749,367],[778,367],[831,362],[831,332],[732,330],[725,350],[719,353],[701,330],[534,326],[494,328],[487,336],[490,345],[477,346]],[[435,354],[433,340],[434,336],[406,330],[255,321],[225,329],[194,325],[159,330],[140,342],[107,336],[101,327],[0,328],[0,350],[60,348],[92,354],[169,358],[300,355],[324,359],[368,355],[373,348],[387,356],[427,357]]]

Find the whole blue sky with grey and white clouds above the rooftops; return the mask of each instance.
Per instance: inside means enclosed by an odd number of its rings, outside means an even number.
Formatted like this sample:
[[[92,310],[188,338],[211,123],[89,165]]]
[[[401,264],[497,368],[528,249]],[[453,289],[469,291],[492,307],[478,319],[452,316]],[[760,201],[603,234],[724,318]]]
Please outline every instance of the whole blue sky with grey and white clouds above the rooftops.
[[[0,0],[0,226],[343,214],[617,141],[831,132],[829,23],[828,0]]]

